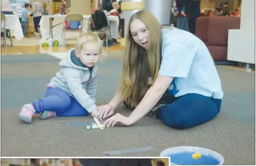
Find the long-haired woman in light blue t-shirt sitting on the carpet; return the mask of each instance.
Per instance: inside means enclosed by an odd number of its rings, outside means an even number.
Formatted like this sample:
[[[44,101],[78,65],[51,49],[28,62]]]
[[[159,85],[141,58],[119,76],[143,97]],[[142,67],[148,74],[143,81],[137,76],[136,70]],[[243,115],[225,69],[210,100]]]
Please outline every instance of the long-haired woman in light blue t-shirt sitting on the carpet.
[[[98,111],[99,118],[108,118],[123,101],[134,110],[129,117],[117,113],[104,124],[130,126],[150,115],[184,129],[213,119],[220,111],[223,91],[206,45],[190,32],[161,29],[145,10],[134,13],[128,27],[121,86]]]

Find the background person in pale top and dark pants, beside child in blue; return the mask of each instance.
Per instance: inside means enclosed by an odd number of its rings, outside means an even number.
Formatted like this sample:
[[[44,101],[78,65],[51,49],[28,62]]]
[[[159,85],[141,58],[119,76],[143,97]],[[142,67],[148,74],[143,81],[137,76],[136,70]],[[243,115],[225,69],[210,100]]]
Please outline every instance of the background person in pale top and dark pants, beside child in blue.
[[[33,21],[34,21],[34,34],[36,38],[39,38],[39,23],[41,20],[41,17],[44,13],[44,7],[42,6],[41,2],[39,0],[34,0],[34,7],[33,7]]]

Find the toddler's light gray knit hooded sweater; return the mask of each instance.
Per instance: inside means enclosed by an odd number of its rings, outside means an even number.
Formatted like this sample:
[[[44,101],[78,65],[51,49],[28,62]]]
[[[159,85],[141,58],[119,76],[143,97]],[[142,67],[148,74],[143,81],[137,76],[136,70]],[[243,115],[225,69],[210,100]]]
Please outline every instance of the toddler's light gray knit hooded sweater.
[[[74,96],[89,113],[96,110],[97,67],[77,66],[71,61],[74,48],[69,50],[68,58],[60,62],[60,72],[53,77],[48,86],[61,88],[69,96]]]

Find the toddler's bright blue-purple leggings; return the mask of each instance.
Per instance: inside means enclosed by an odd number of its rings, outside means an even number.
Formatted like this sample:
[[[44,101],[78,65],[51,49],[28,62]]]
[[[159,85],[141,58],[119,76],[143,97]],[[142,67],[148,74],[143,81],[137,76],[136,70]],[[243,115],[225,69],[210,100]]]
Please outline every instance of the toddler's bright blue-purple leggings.
[[[60,88],[48,88],[45,97],[33,102],[36,113],[43,111],[56,111],[56,116],[88,116],[89,113],[77,102],[75,97],[70,97]]]

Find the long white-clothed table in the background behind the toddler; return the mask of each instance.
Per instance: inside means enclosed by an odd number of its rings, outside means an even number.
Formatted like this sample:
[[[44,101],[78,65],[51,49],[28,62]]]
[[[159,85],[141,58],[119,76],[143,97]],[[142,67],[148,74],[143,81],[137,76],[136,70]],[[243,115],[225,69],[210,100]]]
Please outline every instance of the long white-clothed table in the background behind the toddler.
[[[43,15],[39,23],[42,38],[49,35],[53,35],[53,37],[61,37],[65,17],[66,15]],[[85,20],[89,20],[90,17],[91,15],[83,15],[83,19]],[[118,39],[119,18],[111,15],[107,17],[107,20],[110,25],[110,32],[108,32],[108,34],[111,34],[112,38]],[[88,21],[83,21],[83,32],[87,32],[87,29]],[[66,38],[78,35],[78,32],[67,32]]]

